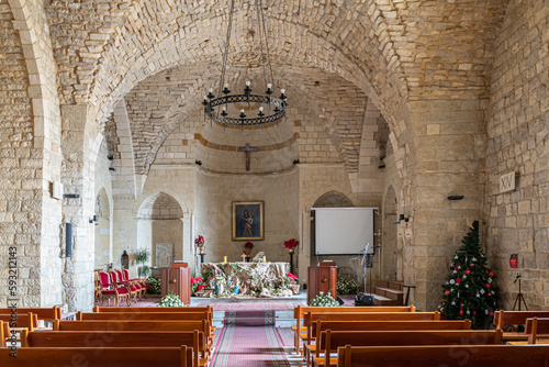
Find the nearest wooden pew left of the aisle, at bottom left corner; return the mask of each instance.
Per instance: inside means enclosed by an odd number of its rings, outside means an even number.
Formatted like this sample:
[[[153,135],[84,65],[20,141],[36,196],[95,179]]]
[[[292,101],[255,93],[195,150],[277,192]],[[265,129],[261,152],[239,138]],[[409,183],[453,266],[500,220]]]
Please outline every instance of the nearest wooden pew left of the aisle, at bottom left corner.
[[[87,367],[191,367],[192,348],[180,347],[20,347],[16,357],[0,348],[2,367],[87,366]],[[45,363],[47,360],[47,364]]]

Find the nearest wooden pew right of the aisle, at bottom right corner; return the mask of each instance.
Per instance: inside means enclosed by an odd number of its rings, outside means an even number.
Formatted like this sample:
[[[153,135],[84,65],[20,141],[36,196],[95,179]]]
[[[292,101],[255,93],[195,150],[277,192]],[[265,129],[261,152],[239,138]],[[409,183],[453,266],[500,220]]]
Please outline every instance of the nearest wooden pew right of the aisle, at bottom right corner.
[[[350,346],[337,349],[337,367],[547,367],[549,346]]]

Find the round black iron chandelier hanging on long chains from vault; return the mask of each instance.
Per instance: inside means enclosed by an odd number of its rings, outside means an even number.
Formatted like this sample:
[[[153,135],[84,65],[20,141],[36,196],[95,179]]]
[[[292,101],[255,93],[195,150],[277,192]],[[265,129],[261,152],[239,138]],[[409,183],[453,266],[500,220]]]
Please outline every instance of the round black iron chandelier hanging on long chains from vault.
[[[259,48],[261,55],[260,63],[262,64],[262,76],[265,88],[267,88],[267,90],[264,94],[253,93],[251,82],[249,80],[246,81],[242,94],[232,94],[228,89],[228,82],[226,82],[225,76],[231,46],[231,32],[233,30],[233,15],[235,10],[235,0],[232,0],[225,51],[223,53],[219,97],[215,97],[213,88],[210,88],[208,94],[204,96],[204,100],[202,101],[205,116],[208,116],[211,122],[215,121],[224,126],[237,125],[244,129],[244,126],[264,125],[270,122],[280,122],[280,120],[287,119],[288,97],[285,96],[284,89],[280,90],[280,97],[276,98],[272,96],[274,94],[274,80],[272,77],[262,0],[254,1],[257,10],[258,32],[256,32],[256,34],[259,34]],[[244,105],[247,104],[247,110],[242,108],[242,103],[244,103]]]

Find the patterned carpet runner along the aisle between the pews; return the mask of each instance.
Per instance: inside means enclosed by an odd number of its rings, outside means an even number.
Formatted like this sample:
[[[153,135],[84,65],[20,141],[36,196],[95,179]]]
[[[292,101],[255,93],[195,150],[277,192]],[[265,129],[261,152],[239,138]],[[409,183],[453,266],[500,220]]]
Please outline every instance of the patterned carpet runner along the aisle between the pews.
[[[290,366],[272,310],[227,311],[215,344],[213,367]]]

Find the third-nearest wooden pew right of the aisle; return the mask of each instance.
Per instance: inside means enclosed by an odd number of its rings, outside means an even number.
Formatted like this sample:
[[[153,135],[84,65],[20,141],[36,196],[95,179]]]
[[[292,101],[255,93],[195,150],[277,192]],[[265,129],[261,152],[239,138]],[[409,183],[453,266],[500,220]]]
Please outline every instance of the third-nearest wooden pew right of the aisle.
[[[320,334],[323,331],[464,331],[471,330],[471,321],[453,320],[453,321],[322,321],[316,320],[312,324],[312,335],[315,335],[315,341],[318,341]],[[305,356],[307,357],[307,366],[312,363],[312,356],[318,357],[316,345],[309,344],[305,346]]]

